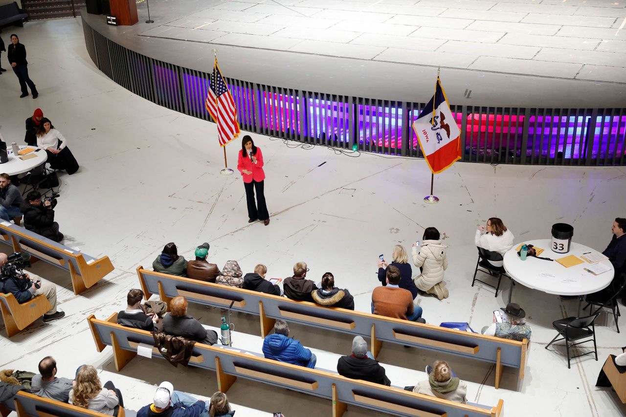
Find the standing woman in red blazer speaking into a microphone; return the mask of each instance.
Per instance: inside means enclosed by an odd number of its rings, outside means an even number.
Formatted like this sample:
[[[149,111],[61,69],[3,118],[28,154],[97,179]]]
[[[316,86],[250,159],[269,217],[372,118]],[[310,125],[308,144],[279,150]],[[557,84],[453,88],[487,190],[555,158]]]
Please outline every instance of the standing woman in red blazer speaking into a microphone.
[[[263,194],[263,154],[260,148],[254,146],[252,138],[245,135],[241,142],[237,169],[244,177],[245,198],[248,202],[248,223],[255,220],[263,220],[264,225],[270,224],[270,215],[265,205],[265,195]],[[254,203],[254,190],[257,190],[257,204]]]

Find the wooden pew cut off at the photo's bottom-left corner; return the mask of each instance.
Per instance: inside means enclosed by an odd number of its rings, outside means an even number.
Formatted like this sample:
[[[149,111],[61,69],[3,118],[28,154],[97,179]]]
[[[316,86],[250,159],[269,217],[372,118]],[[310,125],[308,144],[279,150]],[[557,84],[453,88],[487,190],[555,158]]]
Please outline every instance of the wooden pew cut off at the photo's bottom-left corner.
[[[62,403],[55,399],[40,397],[26,391],[19,391],[13,400],[13,411],[18,417],[108,417],[108,414],[98,413],[90,409],[78,407],[68,403]],[[118,417],[131,417],[136,413],[120,407]],[[3,417],[6,417],[3,415]]]

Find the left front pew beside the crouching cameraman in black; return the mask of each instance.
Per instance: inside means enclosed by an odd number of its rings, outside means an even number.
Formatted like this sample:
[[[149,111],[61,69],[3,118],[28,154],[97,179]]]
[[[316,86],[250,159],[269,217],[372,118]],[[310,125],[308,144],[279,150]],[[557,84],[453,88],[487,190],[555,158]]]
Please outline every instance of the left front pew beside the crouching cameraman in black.
[[[13,247],[14,252],[28,252],[68,271],[76,295],[93,287],[113,270],[108,256],[96,259],[9,222],[0,222],[0,242]]]

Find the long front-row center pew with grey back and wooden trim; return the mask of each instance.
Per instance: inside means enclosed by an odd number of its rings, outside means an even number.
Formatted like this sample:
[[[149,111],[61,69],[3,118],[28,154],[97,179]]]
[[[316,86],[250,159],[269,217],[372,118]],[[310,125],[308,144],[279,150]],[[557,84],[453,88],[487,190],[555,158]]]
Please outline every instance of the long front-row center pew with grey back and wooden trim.
[[[493,363],[496,365],[496,389],[500,388],[504,366],[518,368],[520,379],[524,377],[528,354],[526,340],[518,342],[367,312],[322,307],[312,302],[293,301],[287,297],[162,274],[142,267],[137,268],[137,275],[148,298],[150,294],[158,294],[162,301],[169,302],[175,296],[185,296],[189,302],[214,307],[228,307],[233,302],[234,311],[259,316],[261,337],[272,331],[275,319],[284,319],[370,337],[375,357],[382,348],[382,342],[391,342]]]

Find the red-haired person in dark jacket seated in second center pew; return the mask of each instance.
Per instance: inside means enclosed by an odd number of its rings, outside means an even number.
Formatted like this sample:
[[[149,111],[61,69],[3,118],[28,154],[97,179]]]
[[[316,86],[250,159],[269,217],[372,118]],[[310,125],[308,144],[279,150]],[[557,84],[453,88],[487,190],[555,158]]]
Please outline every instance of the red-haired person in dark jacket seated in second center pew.
[[[205,329],[199,321],[188,316],[187,306],[187,299],[183,296],[170,301],[170,311],[163,317],[163,333],[204,344],[217,343],[217,332]]]

